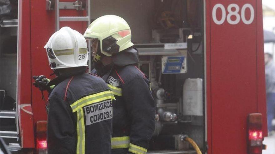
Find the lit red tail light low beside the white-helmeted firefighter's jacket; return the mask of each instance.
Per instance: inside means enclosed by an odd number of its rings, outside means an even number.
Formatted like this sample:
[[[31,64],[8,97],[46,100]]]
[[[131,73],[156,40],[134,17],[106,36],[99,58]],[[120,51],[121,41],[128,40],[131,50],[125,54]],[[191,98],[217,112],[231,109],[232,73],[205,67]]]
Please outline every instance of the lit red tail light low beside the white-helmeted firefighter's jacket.
[[[47,154],[47,121],[36,123],[36,151],[38,154]]]

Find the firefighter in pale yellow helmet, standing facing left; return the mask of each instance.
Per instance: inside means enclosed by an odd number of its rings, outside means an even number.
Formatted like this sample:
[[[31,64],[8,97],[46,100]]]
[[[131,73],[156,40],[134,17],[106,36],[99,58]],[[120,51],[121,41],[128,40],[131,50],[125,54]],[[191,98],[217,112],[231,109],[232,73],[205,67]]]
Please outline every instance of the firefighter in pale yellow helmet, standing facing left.
[[[114,15],[99,17],[86,30],[92,40],[92,71],[113,91],[112,154],[146,154],[155,128],[155,102],[150,81],[136,64],[138,51],[127,22]]]

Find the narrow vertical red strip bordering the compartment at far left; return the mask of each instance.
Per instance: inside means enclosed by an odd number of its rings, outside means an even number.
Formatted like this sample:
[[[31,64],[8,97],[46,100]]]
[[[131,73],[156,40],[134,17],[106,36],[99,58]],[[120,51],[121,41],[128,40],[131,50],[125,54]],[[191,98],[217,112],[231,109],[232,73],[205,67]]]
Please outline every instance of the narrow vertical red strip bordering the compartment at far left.
[[[17,69],[17,108],[19,133],[23,148],[34,147],[33,119],[31,109],[31,40],[30,40],[30,1],[19,1],[18,16],[18,69]]]

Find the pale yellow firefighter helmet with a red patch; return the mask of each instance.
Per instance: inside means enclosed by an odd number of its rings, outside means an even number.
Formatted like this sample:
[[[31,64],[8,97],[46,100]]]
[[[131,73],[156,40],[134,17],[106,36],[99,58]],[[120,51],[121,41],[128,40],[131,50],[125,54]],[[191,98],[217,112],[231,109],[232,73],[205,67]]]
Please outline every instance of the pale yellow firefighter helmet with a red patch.
[[[98,39],[100,51],[106,56],[112,56],[133,46],[131,36],[128,23],[115,15],[99,17],[91,23],[84,33],[86,40]]]

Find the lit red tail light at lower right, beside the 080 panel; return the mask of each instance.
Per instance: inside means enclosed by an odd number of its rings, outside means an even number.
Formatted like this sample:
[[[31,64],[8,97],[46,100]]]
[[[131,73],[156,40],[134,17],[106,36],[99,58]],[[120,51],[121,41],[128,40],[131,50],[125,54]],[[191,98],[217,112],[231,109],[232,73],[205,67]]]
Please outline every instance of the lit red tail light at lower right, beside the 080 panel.
[[[262,154],[262,141],[262,114],[249,114],[247,119],[248,154]]]

